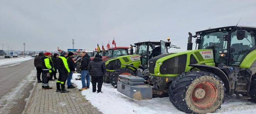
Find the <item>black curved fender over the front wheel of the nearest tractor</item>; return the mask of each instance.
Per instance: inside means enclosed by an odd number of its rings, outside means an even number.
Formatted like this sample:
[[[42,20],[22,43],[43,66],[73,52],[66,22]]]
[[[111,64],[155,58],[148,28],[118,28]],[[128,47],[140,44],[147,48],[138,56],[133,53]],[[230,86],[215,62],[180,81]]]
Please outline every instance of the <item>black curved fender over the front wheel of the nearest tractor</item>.
[[[224,82],[224,86],[226,88],[226,93],[230,92],[229,78],[227,78],[227,75],[221,69],[219,69],[218,67],[213,67],[213,66],[209,66],[209,65],[200,65],[200,64],[192,64],[192,65],[189,65],[189,66],[197,68],[200,71],[214,73],[215,75],[220,77],[221,80]]]

